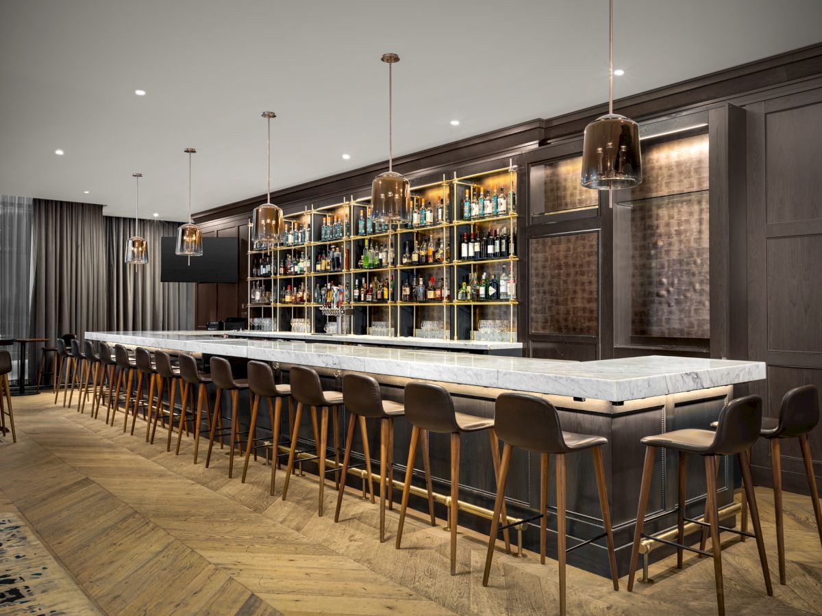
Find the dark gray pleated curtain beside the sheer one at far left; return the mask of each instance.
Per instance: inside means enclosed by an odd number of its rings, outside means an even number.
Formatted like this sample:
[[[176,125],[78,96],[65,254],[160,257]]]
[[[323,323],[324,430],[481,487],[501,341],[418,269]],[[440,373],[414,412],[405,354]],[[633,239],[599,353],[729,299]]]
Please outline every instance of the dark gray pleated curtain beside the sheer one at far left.
[[[34,228],[31,334],[54,340],[105,329],[103,206],[35,199]]]

